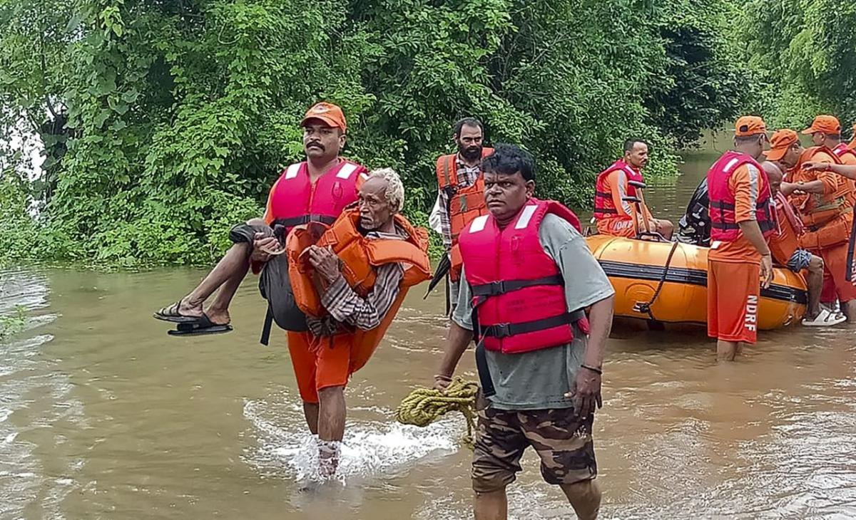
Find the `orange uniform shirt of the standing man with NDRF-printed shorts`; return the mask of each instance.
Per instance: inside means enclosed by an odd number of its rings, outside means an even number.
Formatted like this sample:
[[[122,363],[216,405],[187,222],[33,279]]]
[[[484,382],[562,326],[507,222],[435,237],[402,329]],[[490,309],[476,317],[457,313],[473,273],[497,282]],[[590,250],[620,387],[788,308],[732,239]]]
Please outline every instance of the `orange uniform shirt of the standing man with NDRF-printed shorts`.
[[[767,186],[764,176],[751,164],[743,164],[728,178],[728,191],[734,193],[734,221],[754,221],[758,195]],[[741,231],[733,242],[715,240],[708,258],[715,262],[761,264],[761,253]]]

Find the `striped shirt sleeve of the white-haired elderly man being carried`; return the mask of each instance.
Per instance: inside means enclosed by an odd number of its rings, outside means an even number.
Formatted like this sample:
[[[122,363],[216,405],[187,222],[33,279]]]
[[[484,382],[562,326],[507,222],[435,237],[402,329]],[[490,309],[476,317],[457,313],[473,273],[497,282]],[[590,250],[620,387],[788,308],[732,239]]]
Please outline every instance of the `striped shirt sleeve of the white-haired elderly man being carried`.
[[[321,304],[337,322],[362,330],[377,328],[398,298],[403,276],[404,269],[400,263],[385,263],[377,267],[374,287],[365,298],[354,293],[345,278],[339,276],[321,295]]]

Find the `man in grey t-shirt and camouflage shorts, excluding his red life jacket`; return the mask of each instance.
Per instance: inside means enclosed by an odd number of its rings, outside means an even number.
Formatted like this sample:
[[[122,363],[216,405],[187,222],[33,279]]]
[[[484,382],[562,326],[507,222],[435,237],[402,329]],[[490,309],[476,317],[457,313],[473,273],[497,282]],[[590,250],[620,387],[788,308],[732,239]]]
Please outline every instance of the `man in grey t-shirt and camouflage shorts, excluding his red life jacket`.
[[[524,206],[532,204],[533,166],[526,151],[510,145],[498,146],[484,159],[488,218],[495,219],[499,229],[518,222]],[[486,402],[480,399],[479,405],[473,452],[476,520],[507,517],[505,488],[520,471],[527,446],[538,452],[544,480],[562,488],[578,517],[597,518],[600,506],[591,426],[601,404],[603,347],[612,326],[615,291],[585,239],[562,217],[545,215],[538,241],[562,275],[568,312],[591,307],[590,335],[586,338],[574,324],[574,340],[564,345],[520,353],[484,351],[487,374],[479,376],[489,378],[485,385],[492,383],[495,393]],[[466,256],[461,280],[470,280]],[[471,287],[462,283],[436,387],[448,386],[473,339],[472,310]]]

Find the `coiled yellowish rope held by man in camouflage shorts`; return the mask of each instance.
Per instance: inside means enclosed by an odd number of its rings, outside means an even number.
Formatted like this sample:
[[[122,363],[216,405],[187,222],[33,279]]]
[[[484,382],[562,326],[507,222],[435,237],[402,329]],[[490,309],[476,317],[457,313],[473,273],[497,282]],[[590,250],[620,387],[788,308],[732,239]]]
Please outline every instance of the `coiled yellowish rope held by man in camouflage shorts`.
[[[460,411],[467,420],[467,435],[462,441],[472,448],[477,393],[479,385],[474,381],[464,381],[461,377],[455,377],[443,392],[434,388],[415,388],[406,398],[401,399],[401,404],[395,410],[395,420],[402,424],[425,427],[450,411]]]

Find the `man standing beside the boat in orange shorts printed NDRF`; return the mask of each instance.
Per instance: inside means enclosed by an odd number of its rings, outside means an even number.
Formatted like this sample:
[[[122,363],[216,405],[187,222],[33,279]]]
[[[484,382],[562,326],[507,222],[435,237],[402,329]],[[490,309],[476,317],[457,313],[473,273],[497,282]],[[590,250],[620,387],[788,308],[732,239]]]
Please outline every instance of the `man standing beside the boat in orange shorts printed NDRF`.
[[[725,152],[707,172],[707,334],[716,338],[719,361],[734,361],[742,343],[755,343],[759,286],[768,287],[773,276],[767,237],[775,216],[770,182],[758,164],[767,142],[764,120],[740,117],[734,150]]]

